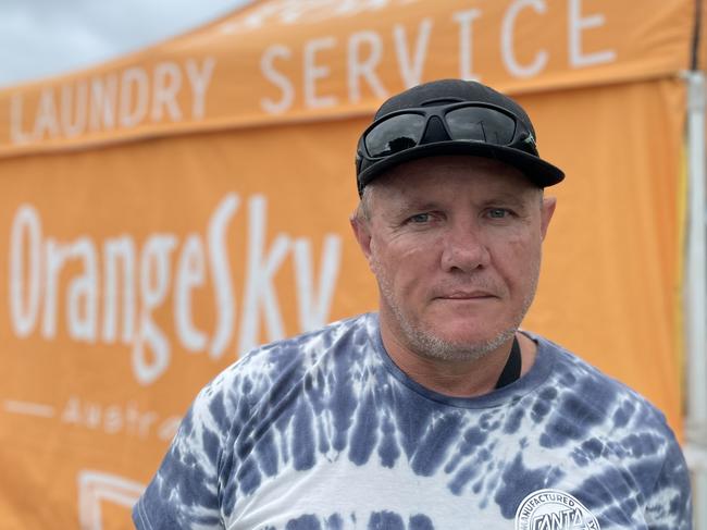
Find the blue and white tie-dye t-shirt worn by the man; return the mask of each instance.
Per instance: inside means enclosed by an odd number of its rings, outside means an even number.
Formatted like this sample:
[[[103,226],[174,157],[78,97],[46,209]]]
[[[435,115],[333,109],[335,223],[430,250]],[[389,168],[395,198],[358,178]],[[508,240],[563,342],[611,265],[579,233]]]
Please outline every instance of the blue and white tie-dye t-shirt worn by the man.
[[[196,398],[139,529],[691,527],[663,416],[539,336],[531,370],[449,397],[387,356],[374,313],[244,356]]]

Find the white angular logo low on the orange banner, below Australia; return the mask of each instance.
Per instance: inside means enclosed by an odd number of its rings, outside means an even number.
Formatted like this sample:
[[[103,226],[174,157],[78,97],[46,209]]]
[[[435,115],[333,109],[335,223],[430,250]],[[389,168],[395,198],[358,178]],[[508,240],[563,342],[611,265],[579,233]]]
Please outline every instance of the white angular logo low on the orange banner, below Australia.
[[[115,474],[84,469],[78,473],[78,520],[83,530],[102,530],[101,503],[132,508],[145,485]]]

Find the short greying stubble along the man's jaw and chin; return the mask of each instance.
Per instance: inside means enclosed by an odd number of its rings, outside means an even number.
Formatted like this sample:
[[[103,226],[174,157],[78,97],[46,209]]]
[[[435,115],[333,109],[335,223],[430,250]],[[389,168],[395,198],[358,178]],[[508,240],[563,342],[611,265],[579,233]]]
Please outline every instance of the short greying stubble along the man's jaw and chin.
[[[443,361],[476,361],[496,352],[504,344],[509,342],[518,331],[528,309],[530,308],[535,291],[537,287],[538,273],[535,272],[531,288],[523,300],[520,311],[516,315],[516,319],[508,325],[507,329],[499,331],[495,336],[486,341],[477,343],[455,342],[443,338],[434,333],[434,330],[427,330],[420,325],[415,325],[406,316],[400,307],[400,304],[394,296],[393,286],[377,262],[373,262],[373,272],[375,273],[379,282],[381,296],[385,300],[386,306],[393,312],[402,338],[405,346],[412,353],[420,357],[425,357],[433,360]],[[539,270],[539,268],[538,268]]]

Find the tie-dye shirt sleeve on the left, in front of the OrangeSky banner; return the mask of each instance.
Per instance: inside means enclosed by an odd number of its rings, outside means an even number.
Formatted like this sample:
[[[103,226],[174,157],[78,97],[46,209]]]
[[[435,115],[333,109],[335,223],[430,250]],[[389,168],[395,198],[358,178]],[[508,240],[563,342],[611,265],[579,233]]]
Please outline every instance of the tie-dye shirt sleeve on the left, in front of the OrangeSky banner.
[[[226,396],[215,380],[196,397],[154,478],[133,508],[138,530],[224,528],[219,469],[230,430]]]

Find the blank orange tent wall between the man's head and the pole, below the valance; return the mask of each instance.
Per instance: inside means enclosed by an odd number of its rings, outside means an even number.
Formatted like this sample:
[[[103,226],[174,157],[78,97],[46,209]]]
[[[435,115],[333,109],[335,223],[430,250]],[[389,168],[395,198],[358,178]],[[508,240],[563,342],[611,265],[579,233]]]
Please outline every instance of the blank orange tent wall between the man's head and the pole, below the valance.
[[[648,396],[679,432],[684,97],[666,79],[522,100],[568,175],[547,190],[558,208],[524,325]]]

